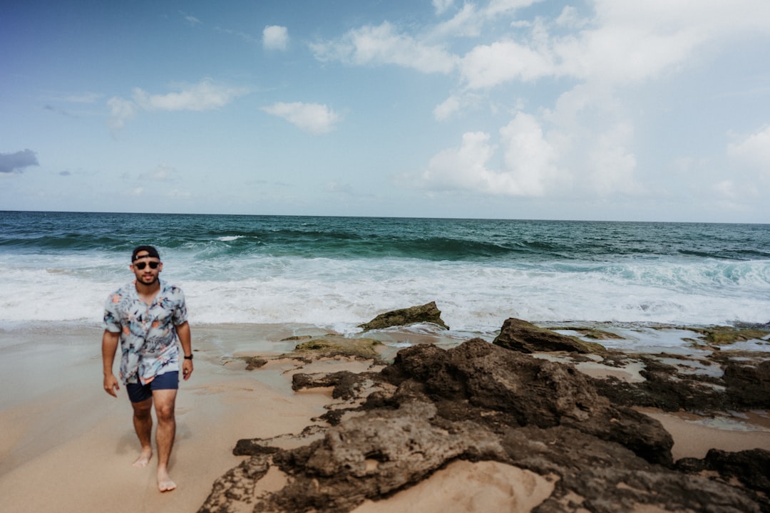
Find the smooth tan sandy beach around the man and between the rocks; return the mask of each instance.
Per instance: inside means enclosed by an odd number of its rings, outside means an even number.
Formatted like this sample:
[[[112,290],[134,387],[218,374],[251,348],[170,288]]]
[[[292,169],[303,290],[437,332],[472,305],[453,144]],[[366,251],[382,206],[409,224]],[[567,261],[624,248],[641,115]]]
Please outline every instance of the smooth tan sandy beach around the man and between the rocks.
[[[180,385],[170,465],[178,489],[164,494],[157,491],[154,465],[131,466],[139,450],[131,407],[125,390],[117,399],[102,390],[100,328],[58,324],[0,331],[5,389],[0,397],[0,511],[197,511],[213,481],[243,461],[232,452],[240,438],[271,438],[325,425],[312,419],[332,402],[330,391],[293,392],[290,376],[296,363],[247,371],[237,358],[290,351],[294,343],[281,340],[303,330],[320,332],[280,325],[193,326],[195,371]],[[369,367],[365,361],[318,361],[302,371]],[[770,450],[766,411],[730,419],[644,413],[674,437],[675,459],[702,458],[708,448]],[[464,485],[471,482],[483,488]],[[548,486],[539,476],[507,465],[457,462],[387,501],[367,502],[359,509],[405,511],[406,503],[425,505],[421,511],[491,511],[492,501],[529,511],[547,495]],[[451,510],[447,504],[462,508]]]

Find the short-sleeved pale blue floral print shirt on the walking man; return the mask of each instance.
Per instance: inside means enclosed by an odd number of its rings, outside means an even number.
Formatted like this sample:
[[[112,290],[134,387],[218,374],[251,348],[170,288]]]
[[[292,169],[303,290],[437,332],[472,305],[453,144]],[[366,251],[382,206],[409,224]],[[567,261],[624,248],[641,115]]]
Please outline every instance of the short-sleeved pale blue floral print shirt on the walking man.
[[[104,328],[120,333],[120,379],[123,384],[146,385],[157,375],[179,371],[176,326],[187,321],[182,289],[160,281],[152,305],[139,298],[136,281],[107,298]]]

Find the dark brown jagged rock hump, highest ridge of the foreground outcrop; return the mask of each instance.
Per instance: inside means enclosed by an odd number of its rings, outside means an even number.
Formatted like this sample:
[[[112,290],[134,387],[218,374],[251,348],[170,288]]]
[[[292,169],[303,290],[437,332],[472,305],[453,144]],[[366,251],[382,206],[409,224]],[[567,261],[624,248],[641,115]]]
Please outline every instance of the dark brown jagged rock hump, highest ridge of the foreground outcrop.
[[[404,349],[382,374],[399,384],[401,393],[427,395],[440,415],[453,421],[476,420],[498,432],[566,425],[617,441],[649,461],[671,464],[673,441],[658,421],[615,407],[571,365],[477,338],[448,351],[431,345]]]

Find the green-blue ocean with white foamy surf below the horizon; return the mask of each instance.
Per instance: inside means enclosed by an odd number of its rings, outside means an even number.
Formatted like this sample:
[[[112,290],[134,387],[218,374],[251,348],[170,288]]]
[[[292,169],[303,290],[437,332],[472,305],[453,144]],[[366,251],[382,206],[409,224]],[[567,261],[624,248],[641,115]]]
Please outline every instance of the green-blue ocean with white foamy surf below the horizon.
[[[459,334],[770,321],[770,225],[0,212],[0,327],[98,325],[139,244],[196,324],[351,333],[428,301]]]

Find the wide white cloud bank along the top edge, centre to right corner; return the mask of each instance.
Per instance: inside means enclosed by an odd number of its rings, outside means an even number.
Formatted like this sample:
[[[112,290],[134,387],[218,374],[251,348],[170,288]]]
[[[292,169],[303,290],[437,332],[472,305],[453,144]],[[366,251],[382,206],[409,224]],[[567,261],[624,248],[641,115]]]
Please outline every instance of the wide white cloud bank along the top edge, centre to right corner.
[[[420,72],[460,71],[469,89],[537,78],[574,78],[618,85],[660,75],[689,58],[698,48],[723,35],[742,31],[770,33],[770,2],[703,0],[692,2],[616,2],[593,0],[592,12],[567,6],[557,17],[532,21],[514,18],[521,8],[541,0],[467,2],[447,22],[423,27],[413,35],[389,22],[363,26],[341,38],[310,45],[320,61],[350,65],[400,65]],[[443,13],[454,2],[434,0]],[[743,13],[752,12],[752,16]],[[470,48],[463,55],[447,50],[454,36],[478,36],[501,17],[528,31]],[[567,32],[565,27],[581,28]]]

